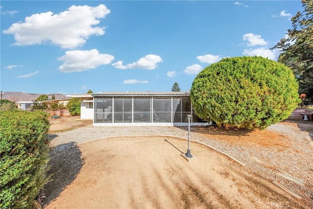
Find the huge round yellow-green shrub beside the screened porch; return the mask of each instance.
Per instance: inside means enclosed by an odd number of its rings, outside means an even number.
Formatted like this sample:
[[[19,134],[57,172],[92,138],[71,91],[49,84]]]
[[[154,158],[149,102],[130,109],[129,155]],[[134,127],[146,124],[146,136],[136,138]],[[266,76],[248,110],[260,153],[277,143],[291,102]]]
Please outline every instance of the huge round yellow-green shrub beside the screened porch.
[[[286,119],[299,103],[292,71],[258,56],[224,58],[206,67],[195,78],[190,97],[198,116],[248,129]]]

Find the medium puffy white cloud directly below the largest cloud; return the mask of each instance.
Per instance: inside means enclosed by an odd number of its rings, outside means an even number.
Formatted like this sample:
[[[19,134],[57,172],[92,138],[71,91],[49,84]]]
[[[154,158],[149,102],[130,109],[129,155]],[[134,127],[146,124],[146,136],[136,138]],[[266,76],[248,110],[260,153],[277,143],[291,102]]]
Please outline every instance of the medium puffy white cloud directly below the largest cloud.
[[[62,72],[75,72],[95,69],[100,65],[108,65],[114,57],[110,54],[99,54],[97,49],[66,51],[58,60],[63,64],[58,68]]]

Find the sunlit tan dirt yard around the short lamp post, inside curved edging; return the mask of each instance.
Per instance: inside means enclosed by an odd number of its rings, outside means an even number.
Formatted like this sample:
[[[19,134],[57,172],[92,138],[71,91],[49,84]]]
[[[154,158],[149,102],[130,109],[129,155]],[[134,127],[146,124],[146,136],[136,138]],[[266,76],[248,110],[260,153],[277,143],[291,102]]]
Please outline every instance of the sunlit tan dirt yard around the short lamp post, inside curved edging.
[[[101,139],[79,145],[77,178],[48,205],[61,208],[298,208],[268,182],[222,154],[191,143],[196,159],[181,154],[186,140],[169,137]]]

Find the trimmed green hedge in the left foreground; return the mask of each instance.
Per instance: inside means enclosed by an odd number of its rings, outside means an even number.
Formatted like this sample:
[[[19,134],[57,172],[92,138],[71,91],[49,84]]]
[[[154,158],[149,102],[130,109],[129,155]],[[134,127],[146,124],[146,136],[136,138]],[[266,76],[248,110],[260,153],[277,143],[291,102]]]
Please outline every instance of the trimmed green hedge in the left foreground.
[[[0,208],[34,208],[47,182],[50,123],[45,112],[0,112]]]

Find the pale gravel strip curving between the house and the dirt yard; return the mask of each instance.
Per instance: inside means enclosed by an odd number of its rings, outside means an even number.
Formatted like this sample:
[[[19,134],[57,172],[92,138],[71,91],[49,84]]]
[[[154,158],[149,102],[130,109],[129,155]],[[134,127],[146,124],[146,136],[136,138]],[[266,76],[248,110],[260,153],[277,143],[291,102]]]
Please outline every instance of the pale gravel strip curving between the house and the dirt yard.
[[[269,182],[289,188],[303,198],[308,208],[313,208],[313,133],[301,131],[299,128],[277,123],[267,128],[270,131],[281,133],[290,146],[284,150],[277,147],[264,148],[261,146],[240,146],[208,139],[205,136],[192,132],[190,139],[216,148],[238,159],[246,166],[243,169],[254,173]],[[188,138],[187,127],[173,126],[85,126],[67,132],[51,134],[51,144],[76,142],[83,143],[96,139],[118,136],[151,136],[168,135],[179,138]],[[239,165],[240,166],[240,165]],[[304,186],[298,185],[282,177],[280,174],[291,175],[304,181]]]

